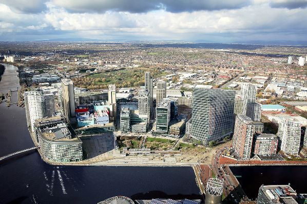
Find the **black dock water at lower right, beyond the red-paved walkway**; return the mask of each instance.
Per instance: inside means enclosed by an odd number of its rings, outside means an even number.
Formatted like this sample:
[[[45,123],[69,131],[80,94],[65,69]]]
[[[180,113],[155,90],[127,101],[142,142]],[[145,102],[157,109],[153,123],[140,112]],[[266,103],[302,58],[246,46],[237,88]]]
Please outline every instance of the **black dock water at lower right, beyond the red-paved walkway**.
[[[287,185],[297,193],[306,193],[307,166],[250,166],[231,167],[244,192],[250,199],[258,195],[259,187],[264,185]]]

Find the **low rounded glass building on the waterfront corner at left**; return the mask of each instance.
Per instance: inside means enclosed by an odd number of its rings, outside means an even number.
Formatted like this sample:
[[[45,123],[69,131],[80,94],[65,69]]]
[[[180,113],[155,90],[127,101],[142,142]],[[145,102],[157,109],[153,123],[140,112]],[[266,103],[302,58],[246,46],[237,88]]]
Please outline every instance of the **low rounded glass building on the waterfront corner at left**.
[[[81,161],[82,141],[60,116],[35,120],[35,137],[43,156],[56,162]]]

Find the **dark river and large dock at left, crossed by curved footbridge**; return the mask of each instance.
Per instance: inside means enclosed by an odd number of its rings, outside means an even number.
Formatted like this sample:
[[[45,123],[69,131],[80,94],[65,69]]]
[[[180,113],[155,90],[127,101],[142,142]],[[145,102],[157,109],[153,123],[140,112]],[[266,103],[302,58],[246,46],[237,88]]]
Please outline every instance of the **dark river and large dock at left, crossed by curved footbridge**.
[[[6,65],[1,92],[19,87],[16,69]],[[0,104],[0,156],[33,146],[24,108]],[[0,163],[0,203],[97,203],[117,195],[201,198],[190,167],[51,166],[37,152]]]

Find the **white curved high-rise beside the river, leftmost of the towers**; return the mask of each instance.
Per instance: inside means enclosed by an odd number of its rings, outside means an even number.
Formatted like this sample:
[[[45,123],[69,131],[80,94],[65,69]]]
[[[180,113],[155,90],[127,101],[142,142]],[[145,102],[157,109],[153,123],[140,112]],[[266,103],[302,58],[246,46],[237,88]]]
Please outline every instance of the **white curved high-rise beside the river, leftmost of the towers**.
[[[40,89],[25,92],[25,108],[28,127],[34,132],[36,119],[45,117],[44,94]]]

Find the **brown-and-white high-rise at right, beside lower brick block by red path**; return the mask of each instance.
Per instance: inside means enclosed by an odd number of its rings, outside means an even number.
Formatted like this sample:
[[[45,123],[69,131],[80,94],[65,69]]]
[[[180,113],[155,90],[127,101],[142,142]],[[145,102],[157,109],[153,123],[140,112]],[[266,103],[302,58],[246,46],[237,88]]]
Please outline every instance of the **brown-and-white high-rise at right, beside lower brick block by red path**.
[[[250,159],[253,148],[253,138],[255,133],[261,133],[259,127],[261,122],[253,121],[245,115],[236,116],[235,131],[233,136],[233,148],[235,153],[242,159]]]

